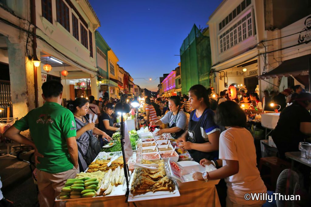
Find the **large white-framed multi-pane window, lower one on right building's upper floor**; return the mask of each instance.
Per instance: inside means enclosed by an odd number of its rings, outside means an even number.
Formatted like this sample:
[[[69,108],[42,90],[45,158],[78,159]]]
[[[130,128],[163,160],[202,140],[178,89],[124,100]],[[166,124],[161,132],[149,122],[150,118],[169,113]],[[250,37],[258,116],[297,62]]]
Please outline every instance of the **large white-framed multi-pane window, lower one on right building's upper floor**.
[[[249,9],[239,19],[233,22],[232,26],[227,28],[218,36],[219,53],[223,53],[244,39],[253,36],[253,9]]]

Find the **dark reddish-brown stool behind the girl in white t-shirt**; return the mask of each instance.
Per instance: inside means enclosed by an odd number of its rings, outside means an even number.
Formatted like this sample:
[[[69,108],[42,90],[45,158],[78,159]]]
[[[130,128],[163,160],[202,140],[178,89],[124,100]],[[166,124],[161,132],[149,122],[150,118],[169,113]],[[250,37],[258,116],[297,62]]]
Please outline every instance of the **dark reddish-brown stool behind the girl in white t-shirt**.
[[[269,175],[262,175],[263,166],[270,168]],[[260,159],[258,169],[262,178],[270,178],[271,184],[264,181],[267,189],[275,191],[277,178],[283,170],[288,168],[290,168],[290,163],[286,162],[285,160],[279,159],[277,157],[264,157]]]

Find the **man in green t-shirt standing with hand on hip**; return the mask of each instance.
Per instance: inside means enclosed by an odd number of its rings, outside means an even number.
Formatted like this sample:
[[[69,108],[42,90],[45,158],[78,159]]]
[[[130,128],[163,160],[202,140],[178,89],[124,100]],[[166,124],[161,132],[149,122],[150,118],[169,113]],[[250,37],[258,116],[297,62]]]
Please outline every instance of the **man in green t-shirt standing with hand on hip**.
[[[35,149],[40,206],[54,206],[68,178],[79,173],[76,122],[62,105],[63,85],[58,81],[42,84],[42,107],[31,110],[10,127],[5,137]],[[29,129],[32,140],[20,134]]]

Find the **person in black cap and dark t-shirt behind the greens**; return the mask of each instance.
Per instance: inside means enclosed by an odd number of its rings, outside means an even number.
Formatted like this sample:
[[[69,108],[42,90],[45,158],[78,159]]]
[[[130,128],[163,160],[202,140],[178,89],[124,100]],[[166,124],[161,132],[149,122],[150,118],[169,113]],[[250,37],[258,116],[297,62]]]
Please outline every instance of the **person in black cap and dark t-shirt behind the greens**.
[[[114,105],[112,103],[108,103],[104,106],[103,114],[100,117],[99,121],[99,129],[101,131],[106,132],[110,137],[116,132],[118,129],[117,127],[114,127]]]

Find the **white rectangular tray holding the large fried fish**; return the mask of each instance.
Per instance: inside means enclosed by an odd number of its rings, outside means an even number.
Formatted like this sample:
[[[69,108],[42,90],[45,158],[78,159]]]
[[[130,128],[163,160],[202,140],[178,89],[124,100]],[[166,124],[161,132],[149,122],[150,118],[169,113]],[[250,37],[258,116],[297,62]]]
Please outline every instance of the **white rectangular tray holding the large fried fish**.
[[[130,189],[132,186],[134,174],[135,174],[135,170],[130,177],[130,186],[129,186]],[[130,191],[128,195],[128,202],[156,200],[156,199],[161,199],[161,198],[172,198],[172,197],[178,197],[178,196],[180,196],[180,194],[179,194],[178,187],[175,184],[175,190],[173,192],[170,192],[170,191],[146,192],[145,194],[134,196]]]

